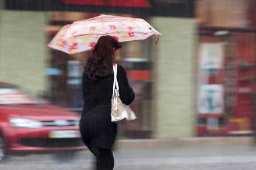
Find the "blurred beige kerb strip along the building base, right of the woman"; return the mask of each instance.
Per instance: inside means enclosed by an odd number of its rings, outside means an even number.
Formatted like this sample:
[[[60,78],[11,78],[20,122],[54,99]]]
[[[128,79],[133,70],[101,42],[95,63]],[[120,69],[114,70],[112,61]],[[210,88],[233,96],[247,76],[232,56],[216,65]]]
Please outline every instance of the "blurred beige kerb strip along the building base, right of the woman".
[[[194,137],[176,139],[119,139],[117,147],[168,147],[177,145],[253,145],[253,137]]]

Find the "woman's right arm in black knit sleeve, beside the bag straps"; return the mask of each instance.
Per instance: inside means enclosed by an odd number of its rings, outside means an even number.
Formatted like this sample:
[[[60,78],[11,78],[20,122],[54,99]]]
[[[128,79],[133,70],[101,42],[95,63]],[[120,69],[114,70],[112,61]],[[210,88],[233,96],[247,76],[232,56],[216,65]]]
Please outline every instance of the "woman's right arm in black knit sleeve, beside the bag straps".
[[[117,81],[119,86],[119,95],[122,102],[126,105],[131,104],[135,98],[135,94],[133,88],[129,85],[126,71],[121,65],[118,65],[117,68]]]

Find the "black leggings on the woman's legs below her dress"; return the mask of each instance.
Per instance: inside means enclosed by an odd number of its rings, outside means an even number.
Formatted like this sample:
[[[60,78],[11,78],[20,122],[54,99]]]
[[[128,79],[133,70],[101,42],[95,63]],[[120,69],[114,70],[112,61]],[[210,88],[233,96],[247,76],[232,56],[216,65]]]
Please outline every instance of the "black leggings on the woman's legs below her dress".
[[[113,170],[114,156],[112,150],[98,147],[90,147],[89,150],[96,157],[96,170]]]

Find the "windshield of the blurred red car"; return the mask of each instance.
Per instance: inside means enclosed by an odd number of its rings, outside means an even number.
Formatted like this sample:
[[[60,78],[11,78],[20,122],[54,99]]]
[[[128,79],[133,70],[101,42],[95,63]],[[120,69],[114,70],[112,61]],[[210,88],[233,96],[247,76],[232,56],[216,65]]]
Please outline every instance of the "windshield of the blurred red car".
[[[47,104],[47,101],[23,88],[0,84],[0,105]]]

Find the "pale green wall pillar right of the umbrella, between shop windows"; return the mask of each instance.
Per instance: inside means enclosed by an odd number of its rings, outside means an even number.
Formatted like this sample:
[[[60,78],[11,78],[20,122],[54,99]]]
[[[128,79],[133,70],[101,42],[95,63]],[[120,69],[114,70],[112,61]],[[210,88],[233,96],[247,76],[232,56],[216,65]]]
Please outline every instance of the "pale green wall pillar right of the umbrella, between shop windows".
[[[152,17],[163,37],[153,47],[154,138],[193,136],[195,54],[192,19]]]

